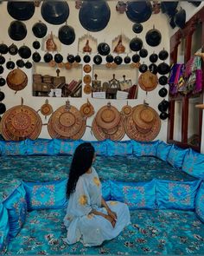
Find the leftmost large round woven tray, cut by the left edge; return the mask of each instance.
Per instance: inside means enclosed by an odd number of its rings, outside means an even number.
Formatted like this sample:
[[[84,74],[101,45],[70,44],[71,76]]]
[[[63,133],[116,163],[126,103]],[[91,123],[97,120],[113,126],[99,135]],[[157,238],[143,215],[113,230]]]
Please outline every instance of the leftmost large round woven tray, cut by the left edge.
[[[29,106],[20,105],[7,110],[1,121],[5,140],[36,139],[41,133],[41,117]]]

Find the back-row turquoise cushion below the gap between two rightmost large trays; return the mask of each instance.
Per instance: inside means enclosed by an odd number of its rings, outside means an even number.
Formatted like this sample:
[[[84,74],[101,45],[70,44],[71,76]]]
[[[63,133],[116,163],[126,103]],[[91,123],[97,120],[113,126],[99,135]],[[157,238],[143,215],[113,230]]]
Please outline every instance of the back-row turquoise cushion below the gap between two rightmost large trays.
[[[108,156],[132,154],[131,141],[106,140],[106,143]]]

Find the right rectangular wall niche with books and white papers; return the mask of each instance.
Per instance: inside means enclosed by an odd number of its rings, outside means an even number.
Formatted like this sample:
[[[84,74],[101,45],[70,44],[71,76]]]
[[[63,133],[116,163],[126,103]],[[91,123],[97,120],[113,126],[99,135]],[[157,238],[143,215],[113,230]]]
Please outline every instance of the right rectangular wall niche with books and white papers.
[[[138,69],[131,65],[107,68],[105,64],[92,67],[92,97],[106,99],[136,99]]]

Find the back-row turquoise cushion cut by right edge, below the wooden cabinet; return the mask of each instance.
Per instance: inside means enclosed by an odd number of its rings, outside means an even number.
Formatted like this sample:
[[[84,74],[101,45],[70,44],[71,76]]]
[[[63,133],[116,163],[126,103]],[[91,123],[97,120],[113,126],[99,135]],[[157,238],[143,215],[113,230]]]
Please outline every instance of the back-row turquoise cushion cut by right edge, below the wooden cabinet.
[[[182,163],[182,171],[194,177],[204,179],[204,154],[189,149]]]

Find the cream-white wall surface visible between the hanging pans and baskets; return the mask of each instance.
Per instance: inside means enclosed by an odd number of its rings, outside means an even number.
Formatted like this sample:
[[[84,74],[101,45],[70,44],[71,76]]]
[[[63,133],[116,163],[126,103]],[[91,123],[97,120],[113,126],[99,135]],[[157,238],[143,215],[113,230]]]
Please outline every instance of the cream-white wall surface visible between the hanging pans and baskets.
[[[132,31],[133,23],[131,23],[131,21],[127,18],[125,13],[118,14],[118,12],[116,11],[115,6],[117,3],[118,3],[118,1],[109,1],[108,2],[109,6],[111,8],[111,19],[110,19],[110,22],[108,23],[107,27],[105,28],[105,30],[101,30],[99,32],[90,32],[90,34],[92,36],[94,36],[98,39],[98,43],[105,42],[105,43],[109,43],[109,45],[111,46],[112,39],[114,39],[116,36],[118,36],[121,33],[124,33],[125,36],[128,36],[130,38],[133,38],[135,36],[135,33]],[[69,8],[70,8],[70,15],[68,17],[67,23],[69,25],[73,26],[73,28],[75,30],[75,34],[76,34],[76,39],[75,39],[75,42],[70,46],[61,44],[61,54],[64,56],[64,58],[67,57],[68,53],[73,54],[73,55],[76,55],[78,53],[78,39],[87,33],[87,31],[80,25],[79,10],[75,9],[74,1],[68,1],[68,4],[69,4]],[[0,31],[1,31],[0,32],[0,42],[6,43],[8,45],[13,43],[12,40],[10,39],[10,37],[8,36],[8,32],[7,32],[8,28],[10,26],[10,22],[12,20],[13,20],[13,18],[7,12],[7,3],[3,2],[0,5]],[[25,43],[25,45],[28,45],[32,49],[33,52],[35,51],[35,49],[32,48],[32,43],[36,39],[32,32],[32,26],[34,23],[38,22],[39,20],[46,23],[41,17],[41,8],[35,8],[35,15],[29,21],[25,22],[25,24],[27,26],[27,30],[28,30],[27,37],[25,38],[25,40],[23,42],[22,41],[14,42],[18,47],[22,46],[22,44]],[[61,25],[51,25],[48,23],[47,23],[47,25],[48,25],[48,33],[53,31],[53,34],[55,36],[57,36],[58,30],[61,27]],[[156,29],[161,31],[163,38],[162,38],[162,43],[159,46],[157,46],[155,48],[150,48],[147,45],[147,43],[145,43],[145,34],[148,30],[152,29],[153,25],[156,26]],[[148,49],[148,51],[149,51],[149,56],[151,53],[153,53],[153,51],[158,53],[163,48],[169,50],[169,33],[170,33],[170,31],[171,30],[169,30],[168,18],[162,12],[157,15],[152,15],[149,21],[143,23],[143,32],[141,34],[139,34],[138,37],[140,37],[143,40],[144,47],[146,49]],[[39,40],[41,42],[41,39],[37,39],[37,40]],[[39,52],[41,54],[41,57],[45,54],[45,52],[42,50],[40,50]],[[131,55],[132,54],[134,54],[134,53],[131,53]],[[80,55],[82,56],[82,54],[80,54]],[[94,56],[94,55],[92,55],[92,56]],[[125,55],[122,55],[122,56],[124,57]],[[142,62],[144,60],[144,62],[146,64],[149,64],[150,63],[149,56],[146,57],[145,59],[142,59]],[[19,58],[19,56],[7,55],[6,59],[9,60],[9,58],[11,58],[12,60],[14,60],[16,62],[16,60]],[[103,63],[105,63],[105,57],[103,57],[103,60],[104,60]],[[30,61],[31,61],[31,58],[30,58]],[[169,60],[167,60],[167,62],[168,61]],[[156,64],[158,64],[158,63],[159,62],[156,62]],[[23,69],[23,71],[26,72],[29,77],[29,82],[28,82],[27,87],[25,89],[23,89],[22,91],[17,92],[17,94],[15,94],[15,92],[13,90],[9,89],[7,85],[4,86],[2,88],[2,91],[5,93],[5,99],[4,99],[3,103],[5,103],[6,108],[9,109],[13,106],[20,105],[21,97],[22,97],[24,99],[25,105],[28,105],[31,108],[35,108],[35,110],[38,110],[41,108],[41,105],[45,102],[46,98],[32,96],[32,74],[33,74],[34,70]],[[104,70],[104,72],[105,72],[105,70]],[[114,72],[114,70],[112,71],[112,73],[113,72]],[[9,70],[7,70],[5,68],[3,77],[6,77],[6,75],[8,73],[9,73]],[[94,75],[94,74],[92,74],[92,75]],[[135,79],[134,77],[132,77],[132,80],[133,80],[132,82],[134,82],[134,83],[137,82],[137,78]],[[168,88],[168,86],[166,86],[166,87]],[[158,111],[157,105],[159,102],[161,102],[163,100],[158,95],[158,90],[161,88],[162,88],[162,86],[158,85],[157,88],[155,90],[149,92],[148,95],[146,95],[146,92],[144,92],[142,89],[139,88],[137,100],[129,100],[129,105],[135,106],[137,104],[143,103],[143,100],[145,99],[146,102],[150,103],[150,107],[155,108],[156,111]],[[87,99],[87,95],[83,95],[83,97],[80,99],[79,98],[77,98],[77,99],[69,98],[70,103],[79,109],[80,109],[80,106],[86,102],[86,99]],[[55,109],[61,107],[61,105],[64,105],[67,98],[48,98],[48,100],[49,100],[49,103],[53,106],[53,108],[55,110]],[[104,106],[109,101],[111,101],[112,105],[117,107],[119,111],[126,104],[126,101],[124,101],[124,100],[97,100],[97,99],[90,98],[90,102],[94,106],[95,113],[99,110],[99,108]],[[158,111],[158,114],[159,114],[159,111]],[[41,119],[42,119],[43,123],[48,122],[48,119],[46,121],[44,119],[43,115],[41,115]],[[92,119],[93,119],[93,116],[87,120],[87,125],[89,125],[89,126],[92,125]],[[42,127],[40,137],[50,138],[48,135],[47,126]],[[166,138],[167,138],[167,120],[162,121],[161,131],[160,131],[159,135],[156,137],[156,139],[166,141]],[[86,134],[83,136],[83,139],[84,140],[95,140],[95,138],[91,135],[90,128],[86,128]],[[128,139],[127,136],[124,137],[124,140],[126,140],[126,139]]]

